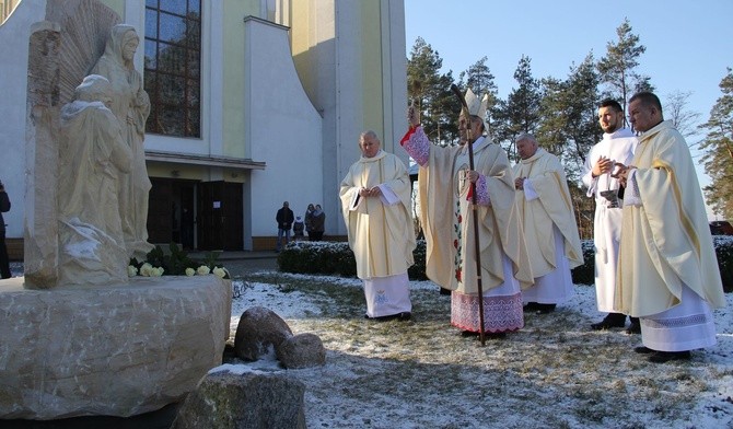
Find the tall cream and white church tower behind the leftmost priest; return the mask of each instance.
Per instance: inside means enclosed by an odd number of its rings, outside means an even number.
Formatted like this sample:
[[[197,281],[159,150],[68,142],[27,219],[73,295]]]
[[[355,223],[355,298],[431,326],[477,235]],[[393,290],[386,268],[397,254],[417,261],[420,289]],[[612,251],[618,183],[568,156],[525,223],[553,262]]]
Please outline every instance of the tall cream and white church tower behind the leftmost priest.
[[[324,123],[326,230],[345,234],[338,186],[359,156],[359,134],[373,129],[386,150],[407,162],[394,146],[407,127],[404,2],[300,0],[289,5],[295,68]]]

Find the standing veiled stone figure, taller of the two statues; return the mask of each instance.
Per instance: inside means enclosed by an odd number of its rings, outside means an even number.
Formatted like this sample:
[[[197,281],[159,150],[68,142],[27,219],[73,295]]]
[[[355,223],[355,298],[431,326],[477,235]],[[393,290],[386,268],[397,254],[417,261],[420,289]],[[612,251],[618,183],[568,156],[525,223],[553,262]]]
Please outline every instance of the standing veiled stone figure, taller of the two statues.
[[[117,24],[112,27],[104,54],[92,69],[112,83],[112,112],[123,128],[123,138],[132,152],[132,169],[123,175],[119,210],[125,246],[129,257],[144,260],[153,246],[148,243],[148,194],[151,188],[143,139],[150,114],[150,98],[142,88],[142,77],[132,59],[140,43],[135,27]]]

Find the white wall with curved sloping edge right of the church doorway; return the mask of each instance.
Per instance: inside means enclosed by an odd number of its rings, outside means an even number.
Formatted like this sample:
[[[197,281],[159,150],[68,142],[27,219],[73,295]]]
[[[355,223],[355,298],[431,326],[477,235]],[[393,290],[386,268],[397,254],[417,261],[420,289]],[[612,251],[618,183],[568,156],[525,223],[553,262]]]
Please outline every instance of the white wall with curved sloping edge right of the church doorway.
[[[252,235],[277,232],[275,213],[288,200],[295,216],[323,204],[322,119],[301,85],[287,27],[245,20],[244,137],[252,158],[267,163],[252,173]]]

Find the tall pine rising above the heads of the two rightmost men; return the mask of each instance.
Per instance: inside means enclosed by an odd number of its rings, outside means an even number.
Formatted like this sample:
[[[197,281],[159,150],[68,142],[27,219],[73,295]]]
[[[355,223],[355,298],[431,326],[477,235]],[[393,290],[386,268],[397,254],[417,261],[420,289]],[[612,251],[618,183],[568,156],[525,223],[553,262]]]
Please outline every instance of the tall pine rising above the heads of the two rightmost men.
[[[618,40],[606,44],[606,56],[597,63],[601,82],[608,84],[607,95],[617,100],[626,109],[626,103],[632,93],[653,91],[651,79],[636,72],[639,57],[647,51],[647,47],[639,44],[639,36],[631,33],[628,18],[616,28]]]

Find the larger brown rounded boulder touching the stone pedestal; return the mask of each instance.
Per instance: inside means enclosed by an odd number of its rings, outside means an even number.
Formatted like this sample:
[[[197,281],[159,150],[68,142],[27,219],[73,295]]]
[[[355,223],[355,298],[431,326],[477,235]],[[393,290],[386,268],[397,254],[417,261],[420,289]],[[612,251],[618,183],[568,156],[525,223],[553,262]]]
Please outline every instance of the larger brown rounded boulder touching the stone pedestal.
[[[272,310],[253,306],[240,317],[234,335],[234,353],[240,359],[255,361],[261,356],[275,353],[280,343],[292,335],[290,326]]]

